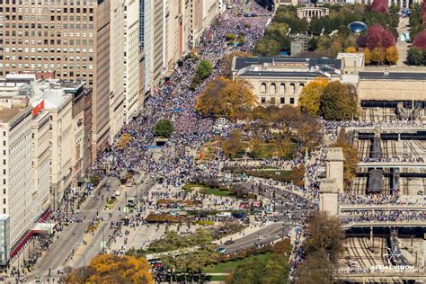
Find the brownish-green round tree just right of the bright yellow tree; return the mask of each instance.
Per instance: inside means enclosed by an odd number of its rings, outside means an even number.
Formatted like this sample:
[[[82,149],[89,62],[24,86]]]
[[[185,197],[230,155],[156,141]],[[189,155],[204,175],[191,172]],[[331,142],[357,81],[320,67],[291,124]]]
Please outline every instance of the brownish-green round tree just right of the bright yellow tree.
[[[320,113],[325,120],[350,120],[358,112],[355,87],[332,82],[324,88],[320,100]]]

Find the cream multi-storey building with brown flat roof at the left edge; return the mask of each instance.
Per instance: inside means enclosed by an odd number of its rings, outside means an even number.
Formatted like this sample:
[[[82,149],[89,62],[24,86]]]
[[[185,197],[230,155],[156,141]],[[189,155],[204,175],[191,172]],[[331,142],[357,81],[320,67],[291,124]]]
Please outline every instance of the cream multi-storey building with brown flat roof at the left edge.
[[[28,105],[28,99],[0,98],[0,151],[3,160],[0,165],[0,210],[2,214],[10,217],[12,250],[20,238],[31,229],[43,207],[42,204],[36,203],[40,200],[40,188],[34,186],[35,173],[32,163],[34,151],[39,151],[33,148],[32,119],[33,110]],[[40,134],[43,132],[40,130]],[[37,158],[35,157],[36,160]],[[44,168],[40,168],[37,175],[43,174],[43,170]],[[40,176],[41,181],[49,177],[49,174],[44,174],[44,177]]]

